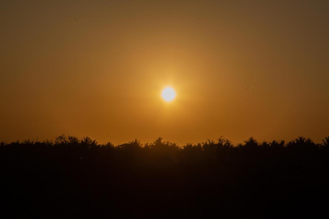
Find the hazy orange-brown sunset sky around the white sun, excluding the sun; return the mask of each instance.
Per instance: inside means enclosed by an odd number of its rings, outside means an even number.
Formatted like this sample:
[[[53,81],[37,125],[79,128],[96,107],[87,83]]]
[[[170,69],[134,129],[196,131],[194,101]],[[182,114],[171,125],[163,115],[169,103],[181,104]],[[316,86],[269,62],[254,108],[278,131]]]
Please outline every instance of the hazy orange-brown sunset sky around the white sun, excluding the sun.
[[[320,143],[328,11],[329,1],[3,0],[0,141]]]

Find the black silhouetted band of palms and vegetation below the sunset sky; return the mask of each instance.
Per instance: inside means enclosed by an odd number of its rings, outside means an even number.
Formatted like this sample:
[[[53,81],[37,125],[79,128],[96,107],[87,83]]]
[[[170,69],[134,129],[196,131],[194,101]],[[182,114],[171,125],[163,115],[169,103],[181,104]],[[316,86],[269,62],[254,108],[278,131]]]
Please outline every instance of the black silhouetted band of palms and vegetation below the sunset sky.
[[[33,218],[314,218],[328,206],[328,158],[329,137],[0,142],[1,208]]]

